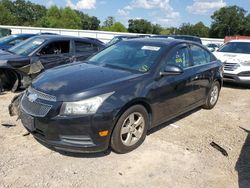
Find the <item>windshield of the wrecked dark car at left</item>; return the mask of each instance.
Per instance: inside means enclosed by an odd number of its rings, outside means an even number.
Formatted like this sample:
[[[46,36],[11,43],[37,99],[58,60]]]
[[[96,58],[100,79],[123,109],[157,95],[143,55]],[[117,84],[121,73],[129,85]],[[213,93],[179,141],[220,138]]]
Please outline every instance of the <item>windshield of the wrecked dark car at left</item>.
[[[18,55],[29,55],[31,52],[40,47],[44,43],[44,41],[45,39],[37,37],[30,38],[10,48],[9,51]]]

